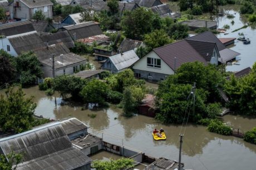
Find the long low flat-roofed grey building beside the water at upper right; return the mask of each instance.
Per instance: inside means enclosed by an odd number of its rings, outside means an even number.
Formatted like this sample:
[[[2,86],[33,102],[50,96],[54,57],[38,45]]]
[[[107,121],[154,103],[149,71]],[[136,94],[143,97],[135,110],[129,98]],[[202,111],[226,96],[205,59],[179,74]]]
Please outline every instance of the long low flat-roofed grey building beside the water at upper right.
[[[193,20],[189,20],[189,21],[183,21],[181,23],[188,25],[190,30],[195,30],[195,29],[203,28],[203,27],[206,27],[209,29],[217,29],[216,21],[193,19]]]

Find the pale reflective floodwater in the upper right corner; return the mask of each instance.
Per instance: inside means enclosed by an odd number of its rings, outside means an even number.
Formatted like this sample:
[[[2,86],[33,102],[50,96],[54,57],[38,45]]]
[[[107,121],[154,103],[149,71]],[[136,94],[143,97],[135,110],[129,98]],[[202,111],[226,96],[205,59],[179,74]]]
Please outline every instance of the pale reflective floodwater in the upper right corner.
[[[220,33],[217,37],[221,38],[238,38],[240,37],[238,33],[243,33],[245,38],[250,38],[250,44],[243,44],[242,41],[235,40],[235,46],[230,47],[236,52],[239,52],[240,55],[237,59],[240,59],[238,64],[233,66],[227,66],[227,71],[240,71],[247,67],[252,67],[254,62],[256,62],[256,31],[255,31],[255,24],[252,26],[248,26],[247,28],[240,29],[239,31],[234,31],[235,29],[241,28],[246,24],[246,19],[241,17],[239,14],[239,6],[238,5],[230,5],[220,7],[223,8],[224,12],[226,13],[225,16],[219,17],[218,28],[223,28],[225,24],[230,26],[230,29],[227,29],[224,33]],[[234,18],[227,18],[227,13],[233,14]],[[231,22],[234,21],[234,24]]]

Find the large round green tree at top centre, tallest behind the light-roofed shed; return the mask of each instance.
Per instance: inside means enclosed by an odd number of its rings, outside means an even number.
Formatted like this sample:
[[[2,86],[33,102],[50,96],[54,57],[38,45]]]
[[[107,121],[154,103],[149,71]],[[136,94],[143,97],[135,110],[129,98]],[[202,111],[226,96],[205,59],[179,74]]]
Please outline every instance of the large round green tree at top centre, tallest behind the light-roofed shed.
[[[142,39],[144,34],[151,32],[154,14],[145,8],[125,11],[121,18],[122,31],[127,38]]]

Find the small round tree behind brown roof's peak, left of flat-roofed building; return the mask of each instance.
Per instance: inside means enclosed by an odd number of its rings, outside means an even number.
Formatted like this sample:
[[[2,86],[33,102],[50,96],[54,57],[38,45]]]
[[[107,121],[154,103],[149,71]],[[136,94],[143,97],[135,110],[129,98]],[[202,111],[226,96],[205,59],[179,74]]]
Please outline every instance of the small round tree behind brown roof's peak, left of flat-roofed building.
[[[167,28],[168,35],[173,39],[183,39],[189,36],[189,27],[181,23],[172,24]]]

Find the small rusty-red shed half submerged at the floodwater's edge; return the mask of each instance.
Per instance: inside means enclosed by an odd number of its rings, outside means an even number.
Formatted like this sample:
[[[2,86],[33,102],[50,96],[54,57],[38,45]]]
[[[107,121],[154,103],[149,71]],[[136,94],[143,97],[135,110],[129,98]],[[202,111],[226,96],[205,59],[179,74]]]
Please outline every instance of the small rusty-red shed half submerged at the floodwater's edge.
[[[152,94],[146,94],[145,98],[142,99],[142,104],[139,106],[139,114],[143,114],[149,117],[156,116],[155,109],[155,96]]]

